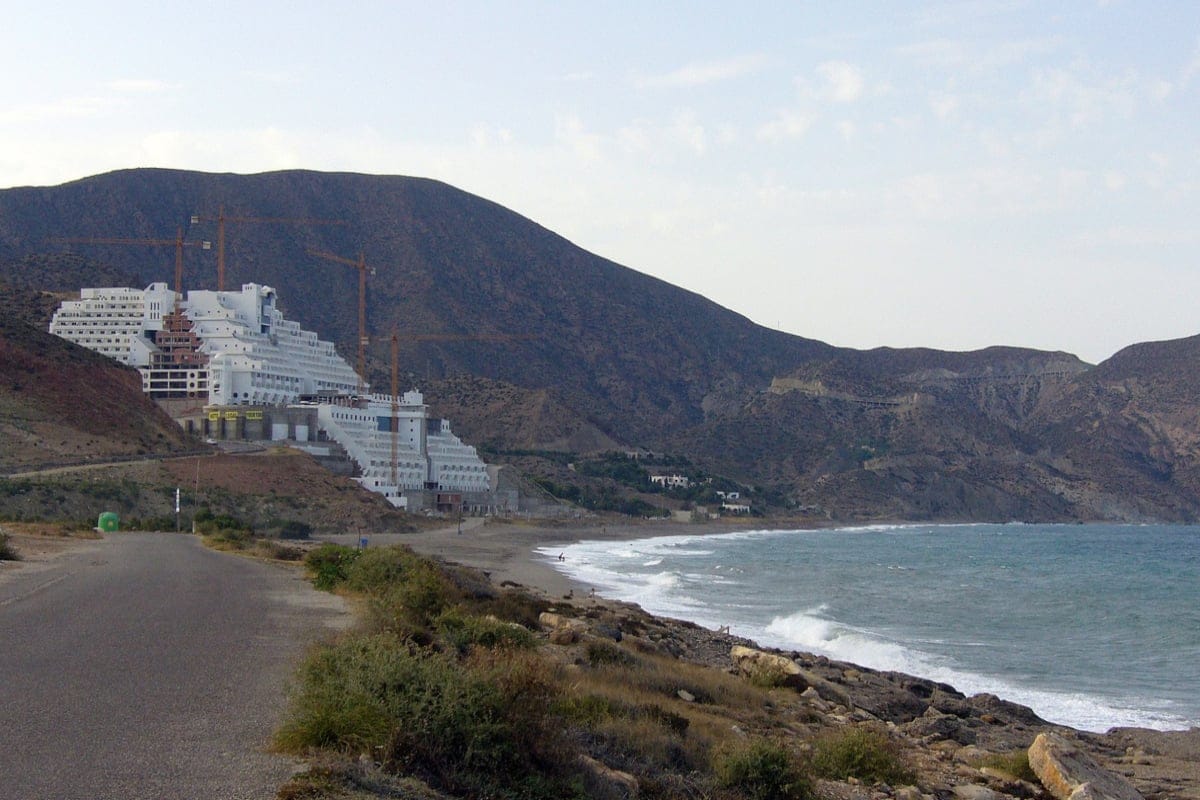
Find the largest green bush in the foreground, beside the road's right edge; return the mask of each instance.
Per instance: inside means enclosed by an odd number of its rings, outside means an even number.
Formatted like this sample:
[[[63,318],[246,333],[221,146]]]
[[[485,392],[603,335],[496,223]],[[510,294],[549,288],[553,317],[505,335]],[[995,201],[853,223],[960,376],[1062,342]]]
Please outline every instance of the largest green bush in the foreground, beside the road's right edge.
[[[383,633],[310,658],[276,744],[366,752],[400,772],[466,796],[575,794],[557,764],[550,703],[557,684],[534,654],[458,662]]]

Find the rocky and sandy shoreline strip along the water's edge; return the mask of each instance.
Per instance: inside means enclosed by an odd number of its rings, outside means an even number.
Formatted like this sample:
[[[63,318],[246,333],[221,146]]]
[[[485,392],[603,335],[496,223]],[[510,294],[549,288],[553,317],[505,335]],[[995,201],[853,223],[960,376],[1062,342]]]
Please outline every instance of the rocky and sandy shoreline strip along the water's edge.
[[[662,533],[689,531],[671,527]],[[554,646],[569,650],[581,638],[611,638],[727,672],[750,672],[755,662],[774,660],[772,669],[786,673],[780,685],[804,700],[804,726],[884,728],[904,744],[920,776],[920,790],[830,783],[822,788],[826,796],[1200,800],[1200,729],[1080,732],[1046,722],[1031,709],[992,694],[967,697],[953,686],[919,676],[806,652],[764,650],[727,632],[653,616],[635,604],[596,596],[590,588],[572,585],[533,554],[535,547],[550,543],[647,535],[654,531],[643,525],[544,529],[475,523],[462,534],[451,529],[397,539],[418,552],[476,567],[497,584],[520,585],[552,602],[544,627]],[[569,661],[570,652],[563,657]],[[1036,781],[989,765],[995,757],[1031,747]]]

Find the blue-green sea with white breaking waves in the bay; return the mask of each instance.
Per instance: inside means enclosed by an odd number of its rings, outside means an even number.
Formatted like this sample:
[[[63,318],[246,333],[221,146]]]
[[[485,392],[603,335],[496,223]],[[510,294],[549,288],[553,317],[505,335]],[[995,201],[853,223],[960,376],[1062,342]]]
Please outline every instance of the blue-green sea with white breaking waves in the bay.
[[[1200,726],[1200,527],[880,525],[541,554],[655,614],[991,692],[1051,722]]]

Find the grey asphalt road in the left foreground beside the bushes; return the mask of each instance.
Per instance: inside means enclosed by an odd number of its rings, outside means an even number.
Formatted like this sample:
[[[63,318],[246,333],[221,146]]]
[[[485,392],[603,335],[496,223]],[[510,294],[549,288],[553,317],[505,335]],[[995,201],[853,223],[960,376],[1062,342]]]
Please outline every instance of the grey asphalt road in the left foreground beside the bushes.
[[[308,643],[348,622],[294,569],[115,534],[0,576],[0,798],[274,798]]]

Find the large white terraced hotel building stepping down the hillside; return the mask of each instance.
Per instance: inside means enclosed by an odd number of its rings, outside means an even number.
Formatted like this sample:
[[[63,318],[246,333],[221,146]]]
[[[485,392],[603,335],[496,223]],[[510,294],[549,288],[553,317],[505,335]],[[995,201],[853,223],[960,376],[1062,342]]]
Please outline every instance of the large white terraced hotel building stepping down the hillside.
[[[331,342],[284,319],[275,289],[247,283],[241,291],[188,291],[175,305],[166,283],[83,289],[55,312],[50,333],[137,367],[151,397],[223,409],[209,411],[210,420],[236,420],[238,407],[316,405],[313,433],[340,444],[359,467],[356,480],[395,505],[418,492],[490,491],[487,465],[448,420],[428,417],[420,392],[396,399],[394,447],[392,398],[359,395],[359,375]],[[263,419],[253,414],[245,419]],[[306,426],[292,429],[308,435]],[[260,435],[280,438],[269,429]]]

